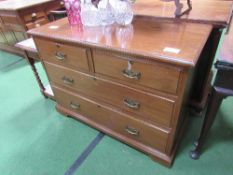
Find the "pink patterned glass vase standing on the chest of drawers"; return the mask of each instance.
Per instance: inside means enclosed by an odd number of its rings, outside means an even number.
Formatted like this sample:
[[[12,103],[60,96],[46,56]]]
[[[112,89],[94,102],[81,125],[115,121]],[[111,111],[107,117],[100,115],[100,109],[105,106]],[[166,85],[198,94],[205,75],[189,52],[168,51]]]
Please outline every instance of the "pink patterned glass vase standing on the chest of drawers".
[[[81,17],[81,3],[80,0],[64,0],[66,12],[70,25],[80,25]]]

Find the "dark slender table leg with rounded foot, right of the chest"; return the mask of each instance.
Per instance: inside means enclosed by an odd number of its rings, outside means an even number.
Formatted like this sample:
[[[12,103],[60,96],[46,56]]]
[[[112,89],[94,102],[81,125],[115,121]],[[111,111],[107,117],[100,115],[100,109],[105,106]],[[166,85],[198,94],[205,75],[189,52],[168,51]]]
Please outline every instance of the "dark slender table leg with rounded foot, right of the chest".
[[[221,89],[213,87],[212,94],[210,97],[210,102],[207,107],[206,115],[204,118],[204,123],[202,125],[201,133],[198,141],[195,143],[196,148],[190,152],[190,157],[192,159],[198,159],[201,153],[201,149],[204,144],[204,140],[213,124],[213,121],[216,117],[216,113],[222,103],[223,98],[225,98],[224,93],[221,92]]]

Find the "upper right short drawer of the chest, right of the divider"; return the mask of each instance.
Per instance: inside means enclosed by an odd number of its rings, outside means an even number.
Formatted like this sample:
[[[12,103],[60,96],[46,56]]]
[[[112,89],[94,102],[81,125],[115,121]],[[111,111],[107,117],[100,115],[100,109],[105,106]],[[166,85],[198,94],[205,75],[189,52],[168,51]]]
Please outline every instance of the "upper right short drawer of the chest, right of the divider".
[[[93,58],[96,73],[163,92],[177,92],[180,76],[178,68],[163,64],[151,65],[97,50],[93,51]]]

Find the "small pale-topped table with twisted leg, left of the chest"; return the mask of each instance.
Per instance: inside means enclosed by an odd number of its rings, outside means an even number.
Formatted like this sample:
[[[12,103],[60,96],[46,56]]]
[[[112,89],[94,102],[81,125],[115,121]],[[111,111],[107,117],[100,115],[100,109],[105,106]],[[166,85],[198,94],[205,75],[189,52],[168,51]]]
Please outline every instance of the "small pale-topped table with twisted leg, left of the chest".
[[[39,73],[36,69],[35,63],[36,61],[41,61],[38,51],[36,49],[34,40],[32,38],[26,39],[24,41],[21,41],[15,45],[17,48],[20,48],[24,52],[24,57],[28,61],[29,65],[31,66],[31,69],[34,73],[34,76],[36,78],[36,81],[40,87],[41,93],[44,95],[44,97],[49,97],[54,100],[54,94],[51,89],[50,85],[44,86]]]

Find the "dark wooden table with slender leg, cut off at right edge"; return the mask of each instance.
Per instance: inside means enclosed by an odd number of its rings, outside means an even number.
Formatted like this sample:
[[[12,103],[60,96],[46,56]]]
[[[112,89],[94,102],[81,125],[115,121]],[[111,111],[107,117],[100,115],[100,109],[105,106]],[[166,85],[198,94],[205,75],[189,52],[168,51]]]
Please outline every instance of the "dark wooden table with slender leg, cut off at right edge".
[[[217,68],[217,75],[212,87],[212,93],[205,114],[204,122],[202,125],[201,133],[195,149],[190,152],[193,159],[198,159],[207,134],[214,122],[216,114],[221,106],[223,99],[228,96],[233,96],[233,23],[231,24],[230,31],[225,35],[222,48],[220,50],[219,60],[215,64]]]

